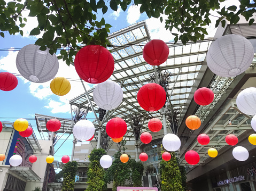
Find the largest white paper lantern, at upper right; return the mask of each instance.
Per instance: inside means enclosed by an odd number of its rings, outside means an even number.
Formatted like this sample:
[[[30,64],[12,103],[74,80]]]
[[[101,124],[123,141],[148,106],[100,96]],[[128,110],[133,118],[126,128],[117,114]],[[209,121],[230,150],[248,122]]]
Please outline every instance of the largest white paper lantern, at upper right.
[[[225,35],[210,46],[206,61],[213,73],[221,77],[232,77],[250,67],[254,49],[246,38],[239,35]]]

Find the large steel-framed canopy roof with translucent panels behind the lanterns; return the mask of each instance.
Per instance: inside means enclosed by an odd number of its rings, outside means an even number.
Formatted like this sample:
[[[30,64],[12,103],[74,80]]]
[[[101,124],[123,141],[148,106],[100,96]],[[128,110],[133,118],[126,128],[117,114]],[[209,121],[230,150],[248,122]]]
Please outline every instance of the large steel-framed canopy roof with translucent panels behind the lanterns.
[[[224,31],[227,34],[239,34],[245,37],[256,36],[253,34],[256,25],[250,29],[243,29],[243,24],[228,26]],[[246,34],[245,34],[246,33]],[[221,34],[221,35],[222,35]],[[216,38],[216,36],[215,36]],[[145,22],[139,22],[133,26],[127,27],[120,31],[114,32],[108,38],[113,47],[108,47],[112,52],[115,61],[115,68],[111,80],[118,82],[123,90],[123,101],[120,106],[111,111],[107,111],[106,117],[102,124],[105,127],[106,122],[114,117],[120,117],[127,123],[126,140],[135,140],[133,129],[131,128],[131,117],[136,114],[144,115],[142,119],[142,130],[149,131],[148,122],[151,118],[162,119],[162,110],[148,112],[142,109],[137,102],[137,93],[139,88],[151,82],[152,74],[168,71],[172,77],[168,81],[168,99],[167,108],[180,109],[179,130],[177,135],[181,139],[180,164],[189,165],[184,160],[184,153],[188,150],[194,150],[199,153],[200,161],[197,165],[204,165],[209,159],[207,154],[208,148],[214,147],[220,150],[228,145],[225,142],[227,134],[241,136],[246,130],[251,130],[251,117],[242,114],[236,106],[235,99],[227,99],[227,95],[241,79],[238,77],[224,78],[214,75],[206,64],[206,53],[214,38],[198,41],[197,43],[187,43],[184,46],[181,43],[167,43],[169,47],[169,56],[165,63],[159,67],[152,67],[146,63],[142,56],[143,47],[150,41],[149,31]],[[255,57],[252,68],[255,64]],[[200,106],[193,101],[193,94],[198,87],[208,87],[214,92],[214,101],[210,105]],[[98,106],[93,100],[94,88],[89,89],[86,93],[73,98],[69,103],[90,111],[90,102],[94,111],[97,113]],[[238,92],[238,90],[236,90]],[[231,97],[233,98],[234,95]],[[168,104],[168,101],[170,103]],[[202,126],[200,130],[190,130],[185,124],[185,118],[188,114],[197,115]],[[98,114],[96,114],[98,116]],[[229,124],[231,120],[232,124]],[[94,120],[95,127],[98,127],[98,120]],[[170,124],[167,122],[167,128]],[[197,142],[197,135],[205,133],[210,136],[210,144],[202,146]],[[96,131],[97,136],[97,131]]]

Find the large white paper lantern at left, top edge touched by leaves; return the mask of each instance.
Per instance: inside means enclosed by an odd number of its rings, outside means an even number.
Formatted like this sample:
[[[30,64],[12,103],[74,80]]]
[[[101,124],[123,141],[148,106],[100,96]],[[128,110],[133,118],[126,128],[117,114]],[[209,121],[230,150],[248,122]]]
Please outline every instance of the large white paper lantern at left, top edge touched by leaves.
[[[40,51],[40,46],[29,44],[20,49],[16,57],[16,66],[20,74],[29,81],[43,83],[55,77],[59,62],[55,54]]]

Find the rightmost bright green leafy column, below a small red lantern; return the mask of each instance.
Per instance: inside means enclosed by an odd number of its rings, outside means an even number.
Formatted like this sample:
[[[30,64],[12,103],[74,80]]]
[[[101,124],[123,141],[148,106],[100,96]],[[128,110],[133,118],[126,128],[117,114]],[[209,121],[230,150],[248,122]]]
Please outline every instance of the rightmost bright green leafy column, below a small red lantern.
[[[162,151],[163,153],[164,151]],[[162,180],[162,191],[182,191],[182,178],[180,168],[177,164],[175,152],[170,152],[172,158],[169,161],[160,162],[160,174]]]

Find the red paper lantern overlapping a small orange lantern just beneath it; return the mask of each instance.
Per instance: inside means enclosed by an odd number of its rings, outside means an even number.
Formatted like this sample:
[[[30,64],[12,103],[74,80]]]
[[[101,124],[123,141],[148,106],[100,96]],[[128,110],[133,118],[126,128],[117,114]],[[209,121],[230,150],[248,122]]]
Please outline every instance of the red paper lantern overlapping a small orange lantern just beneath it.
[[[113,118],[106,124],[107,135],[113,139],[120,138],[126,134],[127,124],[121,118]]]

